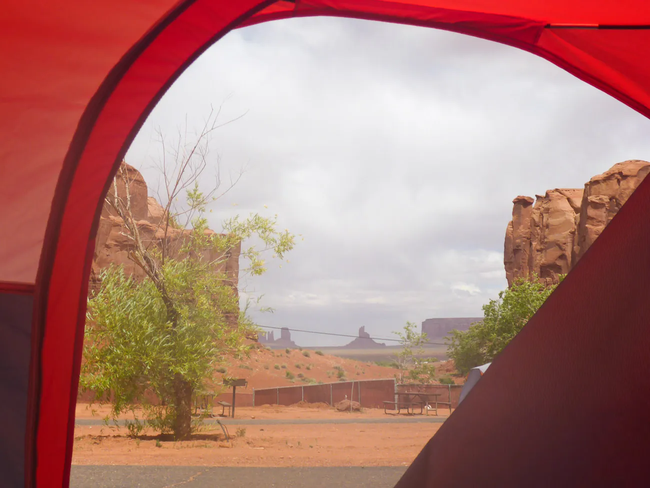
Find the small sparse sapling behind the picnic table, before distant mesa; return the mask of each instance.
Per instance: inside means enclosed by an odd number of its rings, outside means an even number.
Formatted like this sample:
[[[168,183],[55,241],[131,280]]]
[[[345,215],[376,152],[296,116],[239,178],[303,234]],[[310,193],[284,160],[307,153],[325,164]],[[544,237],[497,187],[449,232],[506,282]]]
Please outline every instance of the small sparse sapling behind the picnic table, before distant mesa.
[[[437,359],[425,358],[424,345],[426,332],[418,332],[413,322],[406,322],[402,331],[393,332],[400,338],[402,350],[397,354],[396,363],[400,370],[400,381],[409,383],[430,383],[435,379]]]

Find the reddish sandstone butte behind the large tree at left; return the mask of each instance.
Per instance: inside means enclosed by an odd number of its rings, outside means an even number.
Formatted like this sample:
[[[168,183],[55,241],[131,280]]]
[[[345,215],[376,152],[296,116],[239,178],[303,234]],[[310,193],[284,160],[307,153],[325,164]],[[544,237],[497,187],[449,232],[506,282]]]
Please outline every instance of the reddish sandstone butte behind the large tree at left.
[[[144,245],[159,245],[164,238],[164,208],[153,197],[148,196],[148,188],[142,174],[130,165],[125,165],[129,179],[129,193],[131,194],[131,211],[137,221],[138,230]],[[124,184],[120,178],[116,179],[118,195],[125,195]],[[114,195],[114,188],[109,190]],[[110,264],[122,265],[125,273],[140,280],[144,278],[144,271],[129,259],[129,252],[133,243],[123,233],[124,222],[114,214],[112,209],[105,204],[99,219],[99,228],[95,239],[95,253],[90,271],[90,290],[99,287],[99,274],[101,269]],[[184,239],[190,235],[190,230],[170,228],[167,232],[168,249],[172,256],[179,257],[179,247]],[[206,230],[206,233],[214,233]],[[239,282],[239,246],[219,252],[214,249],[205,251],[204,258],[219,261],[214,267],[215,273],[224,273],[224,280],[233,287],[237,293]],[[229,323],[237,323],[237,317],[228,317]]]

